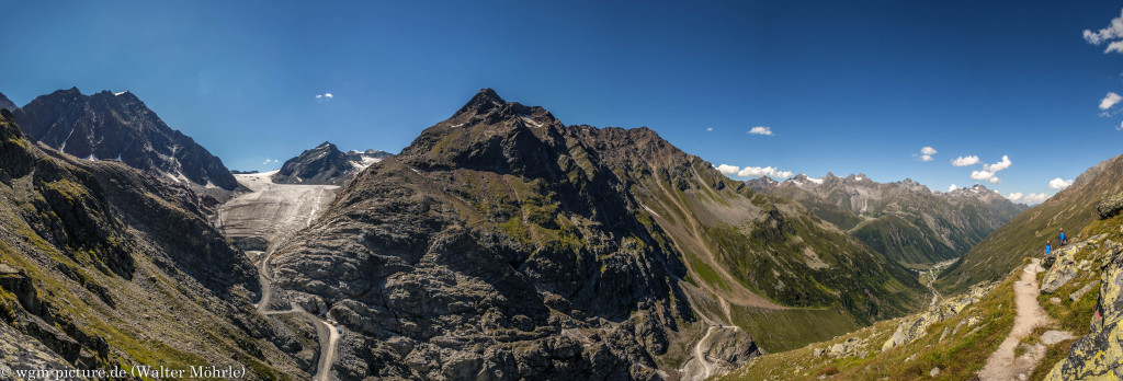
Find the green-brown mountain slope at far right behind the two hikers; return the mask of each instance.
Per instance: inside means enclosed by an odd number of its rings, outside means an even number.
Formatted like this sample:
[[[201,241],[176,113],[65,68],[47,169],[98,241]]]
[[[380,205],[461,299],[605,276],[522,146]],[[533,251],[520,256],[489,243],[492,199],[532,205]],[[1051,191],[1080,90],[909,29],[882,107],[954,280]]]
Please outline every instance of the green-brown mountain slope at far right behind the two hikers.
[[[990,233],[948,268],[937,286],[955,291],[993,280],[1021,263],[1023,258],[1040,255],[1046,240],[1056,244],[1059,229],[1065,229],[1070,240],[1079,240],[1086,235],[1081,230],[1098,219],[1096,205],[1120,192],[1123,192],[1123,156],[1089,168],[1068,188]]]

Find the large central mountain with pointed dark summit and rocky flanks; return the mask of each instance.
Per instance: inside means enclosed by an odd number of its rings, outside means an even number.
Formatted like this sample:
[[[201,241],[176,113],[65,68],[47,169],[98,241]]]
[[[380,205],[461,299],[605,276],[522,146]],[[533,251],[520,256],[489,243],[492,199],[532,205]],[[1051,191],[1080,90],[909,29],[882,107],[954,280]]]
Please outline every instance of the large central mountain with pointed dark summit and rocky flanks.
[[[783,345],[830,337],[922,294],[649,129],[566,127],[491,90],[287,242],[282,297],[320,300],[354,333],[340,379],[705,377],[758,355],[773,327]]]

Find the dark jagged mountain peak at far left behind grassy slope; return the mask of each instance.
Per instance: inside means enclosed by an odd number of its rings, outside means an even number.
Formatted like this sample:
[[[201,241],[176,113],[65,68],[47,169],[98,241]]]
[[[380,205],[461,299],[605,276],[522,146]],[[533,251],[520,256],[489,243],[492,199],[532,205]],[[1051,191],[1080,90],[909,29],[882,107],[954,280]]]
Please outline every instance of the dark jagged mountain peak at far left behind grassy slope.
[[[120,160],[176,183],[238,187],[222,160],[167,127],[129,92],[60,90],[15,114],[28,136],[79,158]]]

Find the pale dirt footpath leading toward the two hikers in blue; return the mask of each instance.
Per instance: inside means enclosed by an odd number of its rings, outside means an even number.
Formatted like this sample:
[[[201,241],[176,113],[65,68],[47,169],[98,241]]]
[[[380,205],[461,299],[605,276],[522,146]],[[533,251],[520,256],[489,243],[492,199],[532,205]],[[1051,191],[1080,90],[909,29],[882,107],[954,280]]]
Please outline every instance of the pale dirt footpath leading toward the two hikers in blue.
[[[1021,340],[1040,326],[1051,323],[1049,315],[1041,305],[1038,304],[1038,272],[1044,271],[1039,264],[1039,259],[1033,259],[1030,264],[1022,270],[1021,278],[1014,282],[1014,303],[1017,305],[1017,316],[1014,317],[1014,328],[1011,329],[1006,340],[998,345],[998,350],[987,359],[986,366],[979,372],[980,380],[1017,380],[1019,375],[1029,375],[1033,368],[1044,356],[1044,351],[1030,351],[1020,357],[1014,356],[1014,349]]]

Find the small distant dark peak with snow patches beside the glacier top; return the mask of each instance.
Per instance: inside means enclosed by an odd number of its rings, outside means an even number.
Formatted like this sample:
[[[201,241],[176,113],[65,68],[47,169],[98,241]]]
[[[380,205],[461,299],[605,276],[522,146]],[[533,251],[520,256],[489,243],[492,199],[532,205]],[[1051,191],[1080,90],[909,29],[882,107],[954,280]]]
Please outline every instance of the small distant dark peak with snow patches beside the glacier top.
[[[336,145],[325,141],[313,149],[305,150],[281,166],[273,182],[277,184],[309,185],[344,185],[355,174],[372,164],[390,157],[390,154],[375,150],[344,154]]]

